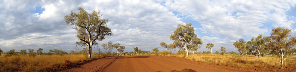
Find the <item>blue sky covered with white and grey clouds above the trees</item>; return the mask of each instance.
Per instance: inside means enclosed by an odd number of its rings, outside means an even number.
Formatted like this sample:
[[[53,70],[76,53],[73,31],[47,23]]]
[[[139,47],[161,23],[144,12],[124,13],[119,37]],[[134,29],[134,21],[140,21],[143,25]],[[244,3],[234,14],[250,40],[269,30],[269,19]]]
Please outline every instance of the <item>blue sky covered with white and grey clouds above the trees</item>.
[[[232,44],[239,38],[269,36],[273,27],[286,27],[296,36],[295,5],[295,0],[0,0],[0,48],[70,52],[78,38],[63,17],[83,7],[109,19],[114,35],[99,41],[99,48],[112,41],[126,46],[125,52],[136,46],[163,51],[159,43],[172,43],[177,24],[190,22],[203,41],[199,51],[209,51],[205,45],[214,43],[213,52],[221,46],[238,52]]]

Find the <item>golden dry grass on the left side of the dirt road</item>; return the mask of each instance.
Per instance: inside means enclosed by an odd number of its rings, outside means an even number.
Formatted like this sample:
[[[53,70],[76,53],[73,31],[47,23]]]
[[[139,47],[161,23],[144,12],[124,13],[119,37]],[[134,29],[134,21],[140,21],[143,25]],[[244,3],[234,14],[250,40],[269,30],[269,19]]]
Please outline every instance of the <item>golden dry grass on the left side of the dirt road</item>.
[[[102,58],[107,55],[94,54],[95,58]],[[65,65],[65,60],[73,64],[82,60],[87,60],[88,55],[69,54],[69,55],[41,55],[41,56],[0,56],[0,72],[12,71],[48,71],[53,66]]]

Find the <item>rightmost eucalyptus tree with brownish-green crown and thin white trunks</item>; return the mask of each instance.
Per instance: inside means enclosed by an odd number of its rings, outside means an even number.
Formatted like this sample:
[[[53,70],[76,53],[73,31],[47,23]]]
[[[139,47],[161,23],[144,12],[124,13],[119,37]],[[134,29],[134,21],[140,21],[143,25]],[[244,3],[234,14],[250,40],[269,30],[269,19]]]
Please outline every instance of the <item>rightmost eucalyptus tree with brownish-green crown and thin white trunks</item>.
[[[268,48],[280,58],[281,69],[283,69],[283,61],[294,52],[296,46],[296,37],[291,36],[291,30],[283,27],[273,28],[270,33],[270,43]]]

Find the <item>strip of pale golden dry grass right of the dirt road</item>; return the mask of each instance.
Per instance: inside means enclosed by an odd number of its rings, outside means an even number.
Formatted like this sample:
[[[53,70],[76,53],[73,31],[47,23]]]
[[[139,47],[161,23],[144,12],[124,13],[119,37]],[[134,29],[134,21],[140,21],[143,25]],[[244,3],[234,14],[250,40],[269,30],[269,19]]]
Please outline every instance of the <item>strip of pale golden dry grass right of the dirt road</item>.
[[[175,56],[186,58],[185,55],[172,54],[165,56]],[[287,58],[286,66],[284,62],[284,67],[294,67],[296,64],[296,56],[291,55]],[[253,55],[244,55],[242,58],[240,55],[216,55],[216,54],[190,54],[187,59],[193,61],[200,61],[205,63],[213,64],[224,64],[230,66],[240,66],[240,67],[254,67],[254,68],[268,68],[268,69],[278,69],[281,66],[278,57],[266,56],[257,58]]]

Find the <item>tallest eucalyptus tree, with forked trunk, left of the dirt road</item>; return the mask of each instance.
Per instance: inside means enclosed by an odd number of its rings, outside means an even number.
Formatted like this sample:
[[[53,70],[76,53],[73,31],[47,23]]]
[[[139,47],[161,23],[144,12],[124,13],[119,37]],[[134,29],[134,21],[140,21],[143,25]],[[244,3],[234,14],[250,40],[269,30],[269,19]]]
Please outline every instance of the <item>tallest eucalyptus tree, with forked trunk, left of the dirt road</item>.
[[[112,36],[113,33],[106,25],[108,19],[101,19],[100,10],[87,12],[82,7],[78,7],[77,10],[78,13],[72,10],[64,19],[67,25],[74,25],[76,37],[83,42],[82,45],[88,46],[89,58],[93,58],[92,46],[95,41],[102,41],[105,36]]]

